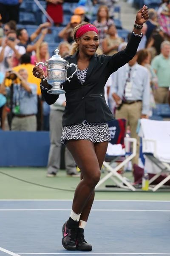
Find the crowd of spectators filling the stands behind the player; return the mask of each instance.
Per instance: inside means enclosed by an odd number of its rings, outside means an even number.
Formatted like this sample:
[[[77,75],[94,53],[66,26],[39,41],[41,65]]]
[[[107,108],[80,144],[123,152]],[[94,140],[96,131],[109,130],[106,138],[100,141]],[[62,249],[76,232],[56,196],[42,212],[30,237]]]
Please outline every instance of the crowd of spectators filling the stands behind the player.
[[[28,35],[24,28],[17,28],[18,17],[10,14],[11,3],[19,6],[22,0],[0,0],[0,128],[3,130],[40,131],[51,130],[51,143],[56,150],[60,147],[62,125],[53,123],[54,116],[62,118],[65,108],[65,96],[62,95],[49,106],[43,99],[40,90],[40,79],[33,76],[32,70],[36,62],[44,62],[51,56],[48,43],[44,41],[48,36],[51,23],[40,24],[38,29]],[[55,26],[61,26],[63,20],[63,0],[48,1],[47,12],[54,20]],[[98,29],[100,54],[113,55],[125,49],[127,39],[119,37],[114,19],[113,5],[115,1],[88,1],[92,5],[98,3],[99,9],[93,25]],[[16,8],[17,8],[16,7]],[[54,8],[55,7],[55,8]],[[6,9],[5,9],[6,8]],[[2,9],[0,9],[2,10]],[[5,15],[5,12],[9,15]],[[59,13],[59,15],[56,15]],[[142,40],[136,56],[128,64],[113,73],[105,85],[105,100],[116,118],[127,119],[131,136],[138,141],[138,154],[133,159],[138,163],[139,137],[136,127],[139,118],[152,116],[156,103],[168,103],[170,86],[170,3],[163,0],[158,12],[148,9],[149,20],[142,28]],[[55,15],[54,15],[55,14]],[[10,20],[9,17],[13,17]],[[62,42],[56,47],[64,58],[70,55],[74,42],[73,30],[83,23],[90,22],[87,10],[78,6],[74,10],[70,23],[59,32]],[[42,66],[40,66],[42,67]],[[42,67],[46,72],[45,67]],[[126,84],[126,88],[125,88]],[[11,96],[12,95],[12,96]],[[59,127],[56,127],[58,125]],[[55,130],[59,132],[55,134]],[[51,149],[51,158],[55,153]],[[56,154],[56,153],[55,153]],[[74,165],[68,155],[68,174],[76,174]],[[56,175],[59,166],[52,166],[49,159],[48,175]],[[72,167],[73,166],[73,167]]]

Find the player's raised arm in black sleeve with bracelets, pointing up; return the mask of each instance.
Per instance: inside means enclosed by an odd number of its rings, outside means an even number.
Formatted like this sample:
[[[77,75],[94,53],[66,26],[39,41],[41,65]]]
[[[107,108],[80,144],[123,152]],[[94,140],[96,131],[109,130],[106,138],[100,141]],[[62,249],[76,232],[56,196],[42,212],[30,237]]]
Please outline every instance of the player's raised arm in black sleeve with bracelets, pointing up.
[[[115,72],[120,67],[128,63],[136,55],[139,43],[142,38],[141,29],[143,24],[149,19],[147,8],[148,7],[144,5],[143,8],[137,12],[133,32],[130,36],[127,47],[125,50],[118,52],[110,57],[108,61],[108,72]]]

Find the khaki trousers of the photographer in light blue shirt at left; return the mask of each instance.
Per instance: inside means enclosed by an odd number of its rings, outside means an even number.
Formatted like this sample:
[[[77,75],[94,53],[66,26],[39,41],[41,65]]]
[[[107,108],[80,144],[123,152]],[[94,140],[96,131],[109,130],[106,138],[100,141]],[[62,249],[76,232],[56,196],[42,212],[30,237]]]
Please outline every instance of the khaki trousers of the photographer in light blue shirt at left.
[[[12,131],[37,131],[37,118],[34,116],[14,116],[11,124]]]

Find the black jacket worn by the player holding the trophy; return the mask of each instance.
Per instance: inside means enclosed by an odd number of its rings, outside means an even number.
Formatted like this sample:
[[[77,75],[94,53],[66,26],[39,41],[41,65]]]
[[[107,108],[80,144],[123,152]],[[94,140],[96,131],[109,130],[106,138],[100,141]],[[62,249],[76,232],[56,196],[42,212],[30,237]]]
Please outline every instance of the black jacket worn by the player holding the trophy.
[[[85,83],[80,84],[75,74],[71,81],[63,83],[66,91],[66,107],[62,118],[62,125],[77,125],[83,120],[87,122],[105,122],[113,119],[113,115],[105,101],[104,87],[109,76],[129,62],[136,54],[141,37],[131,35],[125,50],[113,56],[97,55],[91,57]],[[67,56],[69,63],[77,64],[77,54]],[[75,67],[68,69],[67,76],[71,76]],[[59,97],[45,90],[42,91],[45,101],[51,105]]]

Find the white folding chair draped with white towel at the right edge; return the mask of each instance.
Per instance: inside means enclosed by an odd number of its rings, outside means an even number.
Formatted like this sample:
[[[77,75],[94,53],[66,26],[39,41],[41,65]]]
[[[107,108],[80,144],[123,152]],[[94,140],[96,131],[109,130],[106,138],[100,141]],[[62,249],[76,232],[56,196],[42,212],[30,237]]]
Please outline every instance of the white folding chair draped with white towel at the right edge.
[[[149,187],[155,192],[170,180],[170,121],[141,119],[139,136],[142,137],[144,157],[159,170],[159,173],[149,180],[149,184],[161,174],[167,175],[159,184]],[[147,170],[147,166],[145,169]],[[149,169],[147,171],[150,172]]]

